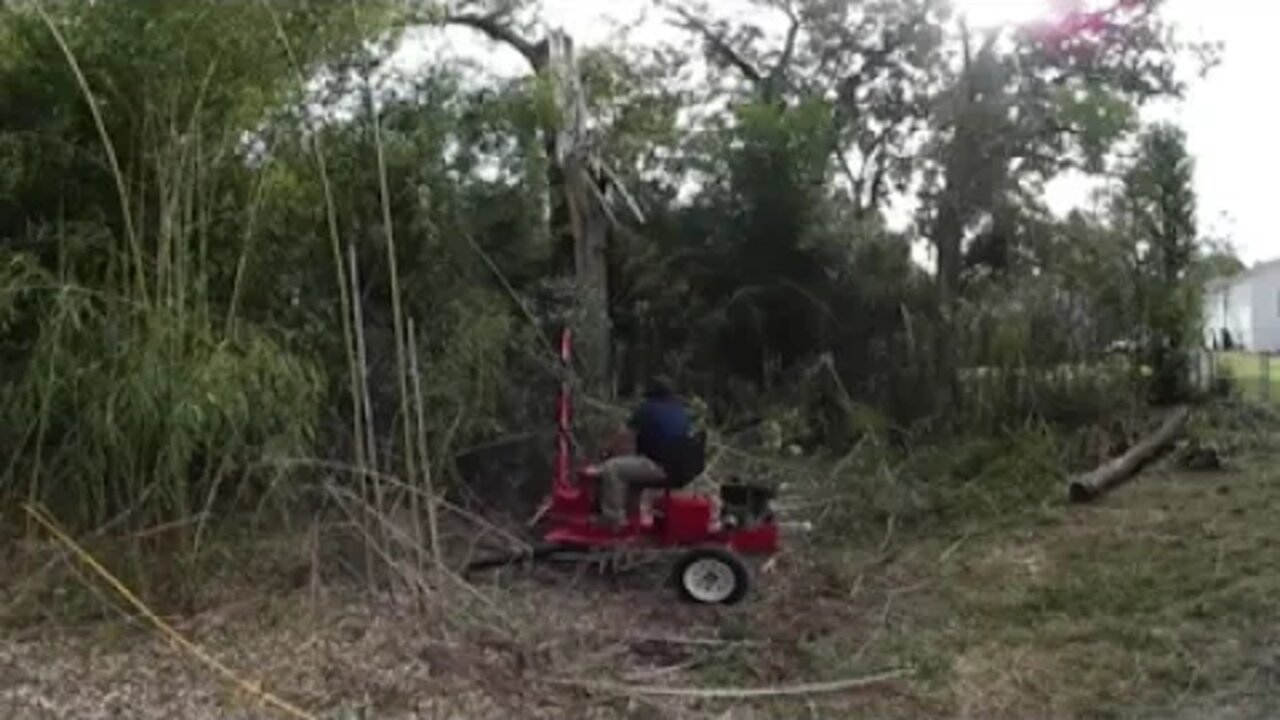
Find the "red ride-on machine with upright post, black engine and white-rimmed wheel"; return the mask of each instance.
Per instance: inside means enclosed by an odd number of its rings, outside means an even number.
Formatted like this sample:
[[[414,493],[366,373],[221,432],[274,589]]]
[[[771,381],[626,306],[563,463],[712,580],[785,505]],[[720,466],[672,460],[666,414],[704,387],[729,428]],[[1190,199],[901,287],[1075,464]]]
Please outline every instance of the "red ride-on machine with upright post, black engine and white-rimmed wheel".
[[[566,331],[561,340],[566,368],[572,359],[571,341]],[[607,525],[599,515],[599,468],[573,468],[570,395],[566,382],[557,407],[552,493],[543,514],[541,544],[532,559],[636,548],[669,551],[677,555],[672,579],[685,600],[710,605],[742,600],[750,589],[744,556],[767,556],[778,550],[773,492],[741,482],[722,486],[718,498],[682,492],[680,488],[703,471],[705,446],[700,441],[696,456],[685,464],[680,477],[648,488],[658,493],[650,510],[641,509],[639,497],[628,498],[626,523],[620,528]],[[498,564],[484,561],[472,568]]]

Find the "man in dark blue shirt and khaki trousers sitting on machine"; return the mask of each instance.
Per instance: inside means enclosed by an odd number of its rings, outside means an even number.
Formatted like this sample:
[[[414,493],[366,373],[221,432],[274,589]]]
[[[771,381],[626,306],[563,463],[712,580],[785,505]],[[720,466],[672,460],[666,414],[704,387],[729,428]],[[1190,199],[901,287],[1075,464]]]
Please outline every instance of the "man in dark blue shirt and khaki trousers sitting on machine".
[[[681,487],[703,471],[704,446],[692,434],[684,404],[662,379],[652,379],[644,402],[611,443],[599,465],[600,514],[614,528],[627,520],[645,489]]]

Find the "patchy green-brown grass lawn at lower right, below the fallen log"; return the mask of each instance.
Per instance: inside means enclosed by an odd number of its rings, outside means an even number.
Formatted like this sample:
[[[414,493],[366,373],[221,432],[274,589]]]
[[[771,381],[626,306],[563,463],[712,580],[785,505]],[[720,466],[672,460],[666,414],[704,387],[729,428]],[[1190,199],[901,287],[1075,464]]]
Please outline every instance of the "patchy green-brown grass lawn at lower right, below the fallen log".
[[[915,674],[758,716],[1280,717],[1280,465],[1274,450],[1234,464],[1161,462],[1096,505],[1047,500],[950,537],[886,532],[804,593],[771,580],[754,639],[799,648],[778,678]]]

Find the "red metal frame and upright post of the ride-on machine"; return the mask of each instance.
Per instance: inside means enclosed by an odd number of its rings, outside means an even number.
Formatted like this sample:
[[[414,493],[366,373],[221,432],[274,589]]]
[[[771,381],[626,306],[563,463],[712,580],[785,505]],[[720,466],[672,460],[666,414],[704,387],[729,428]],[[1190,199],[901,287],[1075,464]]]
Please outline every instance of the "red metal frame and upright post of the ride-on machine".
[[[572,334],[561,336],[561,361],[572,361]],[[572,469],[570,433],[572,405],[570,386],[561,384],[556,409],[556,468],[544,539],[553,544],[584,548],[616,547],[705,547],[718,546],[744,555],[771,555],[778,550],[778,525],[769,518],[746,528],[719,525],[716,502],[704,495],[663,492],[653,512],[627,518],[620,528],[602,525],[595,518],[600,471],[589,465],[576,474]]]

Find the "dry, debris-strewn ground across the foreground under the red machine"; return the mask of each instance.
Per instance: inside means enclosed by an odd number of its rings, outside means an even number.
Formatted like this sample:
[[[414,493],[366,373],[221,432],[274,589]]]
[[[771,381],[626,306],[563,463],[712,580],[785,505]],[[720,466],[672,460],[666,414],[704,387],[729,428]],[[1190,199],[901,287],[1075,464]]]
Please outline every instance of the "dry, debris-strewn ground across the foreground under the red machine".
[[[1274,459],[1156,468],[1096,506],[1053,498],[997,525],[792,544],[758,569],[748,603],[710,610],[675,602],[659,568],[508,573],[420,609],[307,579],[298,552],[270,570],[280,582],[227,583],[170,620],[255,687],[343,720],[1274,717],[1277,509]],[[0,594],[0,716],[288,716],[136,614],[38,611],[84,594],[86,578],[33,594],[19,575]],[[106,591],[79,602],[123,607]],[[690,692],[886,671],[845,692]]]

